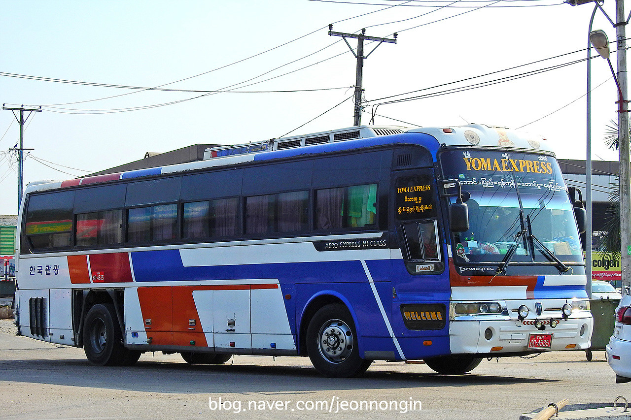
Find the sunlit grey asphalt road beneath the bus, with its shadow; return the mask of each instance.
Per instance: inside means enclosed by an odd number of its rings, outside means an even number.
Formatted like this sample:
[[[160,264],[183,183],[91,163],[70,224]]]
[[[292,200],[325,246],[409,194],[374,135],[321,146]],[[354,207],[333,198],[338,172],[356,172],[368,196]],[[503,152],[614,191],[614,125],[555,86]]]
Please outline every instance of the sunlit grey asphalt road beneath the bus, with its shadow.
[[[235,356],[189,366],[179,354],[143,354],[102,368],[83,349],[16,337],[0,321],[0,418],[9,419],[518,419],[564,398],[631,400],[603,351],[483,361],[468,375],[425,365],[374,363],[361,378],[320,376],[307,358]],[[568,407],[569,409],[571,407]],[[337,411],[337,412],[336,412]]]

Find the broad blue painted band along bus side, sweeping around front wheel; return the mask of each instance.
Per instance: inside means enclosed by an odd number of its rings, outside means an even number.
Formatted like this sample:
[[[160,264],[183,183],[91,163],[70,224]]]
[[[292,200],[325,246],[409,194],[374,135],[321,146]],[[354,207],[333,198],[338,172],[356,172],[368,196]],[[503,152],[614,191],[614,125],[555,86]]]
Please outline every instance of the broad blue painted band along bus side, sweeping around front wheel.
[[[318,295],[322,289],[329,289],[331,294],[339,296],[348,302],[351,310],[357,310],[357,329],[360,335],[360,348],[364,351],[382,351],[384,346],[394,346],[394,342],[383,320],[382,313],[375,300],[363,266],[358,260],[330,261],[330,262],[293,262],[270,264],[240,264],[240,265],[208,265],[184,267],[179,250],[156,250],[132,252],[131,259],[134,276],[137,282],[150,281],[208,281],[208,280],[244,280],[249,279],[278,279],[283,295],[292,295],[292,300],[285,301],[285,309],[290,322],[292,333],[300,323],[300,313],[304,310],[312,296]],[[395,336],[406,331],[406,337],[444,337],[438,340],[442,344],[435,345],[431,351],[435,354],[449,353],[449,325],[438,331],[409,331],[403,326],[403,318],[399,315],[398,307],[392,306],[392,284],[389,270],[391,260],[369,260],[371,276],[375,281],[375,288],[384,306],[386,317],[389,319]],[[402,265],[402,264],[397,264]],[[404,271],[404,268],[403,268]],[[420,281],[418,276],[410,276],[410,281]],[[438,283],[438,282],[437,282]],[[442,281],[443,293],[433,291],[432,298],[444,299],[449,308],[449,282]],[[295,285],[295,286],[294,286]],[[323,286],[324,285],[324,286]],[[398,305],[398,303],[396,303]],[[394,313],[394,319],[393,314]],[[364,342],[364,339],[366,342]],[[435,340],[434,338],[432,338]],[[418,346],[418,339],[405,341],[403,353],[406,357],[420,358],[427,354],[428,349]],[[409,344],[408,344],[409,342]],[[384,344],[391,343],[391,344]],[[377,346],[379,344],[379,346]],[[403,347],[403,346],[402,346]],[[393,347],[394,348],[394,347]],[[394,354],[399,357],[398,352]]]

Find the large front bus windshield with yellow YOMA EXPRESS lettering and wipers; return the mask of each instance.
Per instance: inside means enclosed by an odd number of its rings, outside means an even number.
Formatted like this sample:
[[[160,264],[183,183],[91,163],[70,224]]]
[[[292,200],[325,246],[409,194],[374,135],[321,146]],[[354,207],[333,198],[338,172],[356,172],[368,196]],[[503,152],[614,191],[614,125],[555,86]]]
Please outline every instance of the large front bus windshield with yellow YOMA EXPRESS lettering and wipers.
[[[471,194],[469,230],[454,235],[457,262],[502,262],[512,247],[517,247],[514,261],[549,262],[538,246],[563,262],[582,262],[574,211],[555,158],[457,149],[440,160],[444,179],[459,180]],[[529,245],[533,236],[541,245]]]

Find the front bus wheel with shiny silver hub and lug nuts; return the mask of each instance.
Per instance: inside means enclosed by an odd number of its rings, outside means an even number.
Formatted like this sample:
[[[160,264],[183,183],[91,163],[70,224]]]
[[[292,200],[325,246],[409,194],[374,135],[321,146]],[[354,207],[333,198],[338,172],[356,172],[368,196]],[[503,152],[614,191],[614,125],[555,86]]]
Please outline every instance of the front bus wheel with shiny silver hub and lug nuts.
[[[345,305],[320,308],[307,327],[307,353],[315,369],[329,378],[348,378],[367,370],[372,360],[359,356],[357,331]]]

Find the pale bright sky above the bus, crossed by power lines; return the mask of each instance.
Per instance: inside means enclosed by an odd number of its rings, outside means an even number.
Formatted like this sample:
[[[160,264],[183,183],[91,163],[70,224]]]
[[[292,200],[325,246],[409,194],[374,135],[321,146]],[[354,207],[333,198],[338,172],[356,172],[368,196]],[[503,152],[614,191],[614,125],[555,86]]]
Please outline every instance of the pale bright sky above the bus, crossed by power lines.
[[[548,139],[558,158],[584,160],[581,60],[593,7],[560,0],[5,0],[0,103],[42,107],[25,124],[23,147],[32,149],[25,151],[25,184],[81,177],[148,151],[350,127],[356,61],[341,37],[328,35],[333,23],[336,32],[398,33],[396,44],[379,45],[364,62],[362,124],[375,113],[378,125],[521,128]],[[603,8],[615,18],[613,0]],[[593,28],[616,38],[601,11]],[[366,42],[365,53],[375,45]],[[617,119],[615,82],[604,59],[591,63],[592,157],[618,160],[603,141]],[[529,74],[548,67],[557,68]],[[167,90],[146,89],[158,86]],[[383,103],[394,95],[389,100],[416,98]],[[0,112],[0,136],[0,214],[16,214],[18,164],[9,149],[19,125],[9,110]]]

